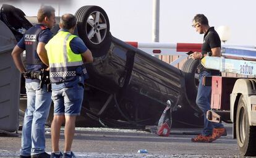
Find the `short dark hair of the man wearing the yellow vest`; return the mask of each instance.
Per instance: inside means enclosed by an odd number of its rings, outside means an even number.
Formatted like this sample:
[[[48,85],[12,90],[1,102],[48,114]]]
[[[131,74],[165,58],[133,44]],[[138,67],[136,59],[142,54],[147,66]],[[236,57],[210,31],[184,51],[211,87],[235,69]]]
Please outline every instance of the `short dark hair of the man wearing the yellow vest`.
[[[61,19],[59,20],[59,25],[61,25],[61,28],[65,28],[69,30],[72,27],[75,27],[77,24],[77,20],[75,19],[75,16],[72,14],[64,14],[61,16]]]

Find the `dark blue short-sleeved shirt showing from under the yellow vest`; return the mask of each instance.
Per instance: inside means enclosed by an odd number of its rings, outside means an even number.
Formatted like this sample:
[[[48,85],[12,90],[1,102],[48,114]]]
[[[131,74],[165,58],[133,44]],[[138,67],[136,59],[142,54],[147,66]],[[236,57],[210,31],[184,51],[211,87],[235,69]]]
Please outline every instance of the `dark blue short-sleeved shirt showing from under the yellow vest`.
[[[68,30],[61,29],[59,31],[68,31]],[[75,54],[83,54],[88,49],[87,46],[85,46],[85,44],[83,43],[83,40],[81,38],[79,38],[79,36],[73,38],[70,41],[69,46]],[[79,68],[78,71],[82,71],[82,69]],[[83,84],[83,78],[81,79],[81,77],[77,77],[77,79],[74,81],[68,81],[68,82],[64,82],[64,83],[53,83],[52,89],[58,90],[58,89],[62,89],[65,87],[70,87],[70,86],[78,84],[78,83]]]

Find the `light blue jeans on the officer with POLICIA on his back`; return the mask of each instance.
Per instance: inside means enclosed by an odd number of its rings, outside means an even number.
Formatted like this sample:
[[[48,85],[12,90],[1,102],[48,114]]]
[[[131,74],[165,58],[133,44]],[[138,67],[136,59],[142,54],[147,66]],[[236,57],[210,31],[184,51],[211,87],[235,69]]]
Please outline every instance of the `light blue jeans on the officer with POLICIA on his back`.
[[[45,152],[45,122],[51,106],[51,93],[46,85],[26,83],[27,109],[22,128],[22,148],[20,155],[30,156]]]

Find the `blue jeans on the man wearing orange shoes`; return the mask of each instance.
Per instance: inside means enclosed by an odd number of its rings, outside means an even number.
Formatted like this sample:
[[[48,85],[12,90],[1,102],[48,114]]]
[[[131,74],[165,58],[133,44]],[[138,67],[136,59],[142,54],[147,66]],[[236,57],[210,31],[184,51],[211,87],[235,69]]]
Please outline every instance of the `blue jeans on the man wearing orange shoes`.
[[[211,135],[213,132],[213,128],[223,128],[223,125],[221,123],[215,123],[210,122],[207,120],[206,113],[207,110],[211,109],[211,86],[203,86],[203,77],[211,76],[210,72],[200,72],[199,75],[199,85],[198,85],[198,91],[197,91],[197,106],[202,110],[203,112],[203,133],[202,135],[208,136]]]

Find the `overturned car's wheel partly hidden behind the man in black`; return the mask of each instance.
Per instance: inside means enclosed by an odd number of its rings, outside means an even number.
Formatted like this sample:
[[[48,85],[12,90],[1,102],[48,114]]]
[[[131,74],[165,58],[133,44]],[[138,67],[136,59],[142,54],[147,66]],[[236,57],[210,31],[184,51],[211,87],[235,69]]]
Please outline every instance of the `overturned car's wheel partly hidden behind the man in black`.
[[[187,59],[186,62],[183,64],[181,70],[184,72],[185,75],[188,102],[193,109],[197,110],[198,112],[202,112],[202,110],[200,110],[195,103],[199,84],[199,73],[197,71],[198,64],[199,60],[194,60],[191,58]]]

